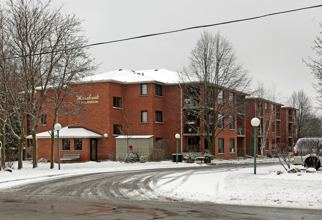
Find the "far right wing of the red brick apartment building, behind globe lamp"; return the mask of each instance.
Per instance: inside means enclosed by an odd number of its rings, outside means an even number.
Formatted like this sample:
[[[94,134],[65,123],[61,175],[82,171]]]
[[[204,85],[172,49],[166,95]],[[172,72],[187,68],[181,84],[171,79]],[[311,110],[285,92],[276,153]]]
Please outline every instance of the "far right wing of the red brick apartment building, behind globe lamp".
[[[264,155],[268,151],[274,154],[272,145],[275,143],[287,143],[291,146],[296,141],[296,110],[284,107],[282,104],[263,98],[246,98],[246,154],[254,155],[254,127],[251,120],[254,117],[260,119],[258,127],[257,154],[261,155],[261,143],[265,143]],[[261,140],[264,141],[261,141]]]

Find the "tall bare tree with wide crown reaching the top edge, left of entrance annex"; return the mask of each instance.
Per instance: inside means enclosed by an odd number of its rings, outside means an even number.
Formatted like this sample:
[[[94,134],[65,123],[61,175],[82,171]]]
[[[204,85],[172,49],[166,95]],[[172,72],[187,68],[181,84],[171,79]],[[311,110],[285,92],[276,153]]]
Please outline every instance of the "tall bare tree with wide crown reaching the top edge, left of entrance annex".
[[[19,58],[18,74],[23,79],[25,112],[33,137],[33,168],[38,166],[36,133],[48,88],[56,86],[54,79],[62,72],[66,72],[66,79],[71,73],[76,76],[75,71],[82,71],[82,65],[89,68],[91,61],[82,48],[87,40],[82,35],[81,21],[74,15],[63,16],[60,8],[50,9],[49,4],[42,0],[7,1],[9,44]],[[37,88],[40,92],[36,95]]]

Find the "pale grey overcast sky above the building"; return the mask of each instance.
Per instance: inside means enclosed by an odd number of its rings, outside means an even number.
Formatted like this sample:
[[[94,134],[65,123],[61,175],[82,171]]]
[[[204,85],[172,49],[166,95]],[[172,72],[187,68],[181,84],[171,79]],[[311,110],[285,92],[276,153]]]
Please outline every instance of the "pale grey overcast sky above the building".
[[[322,4],[321,0],[53,0],[62,11],[84,19],[90,44],[255,17]],[[179,71],[203,30],[228,37],[237,56],[254,78],[267,87],[276,84],[283,96],[303,88],[315,97],[315,81],[302,62],[316,57],[311,47],[322,31],[322,7],[251,21],[193,29],[179,33],[103,44],[89,51],[97,73],[117,69]],[[283,101],[281,101],[283,103]],[[317,104],[315,104],[317,106]]]

